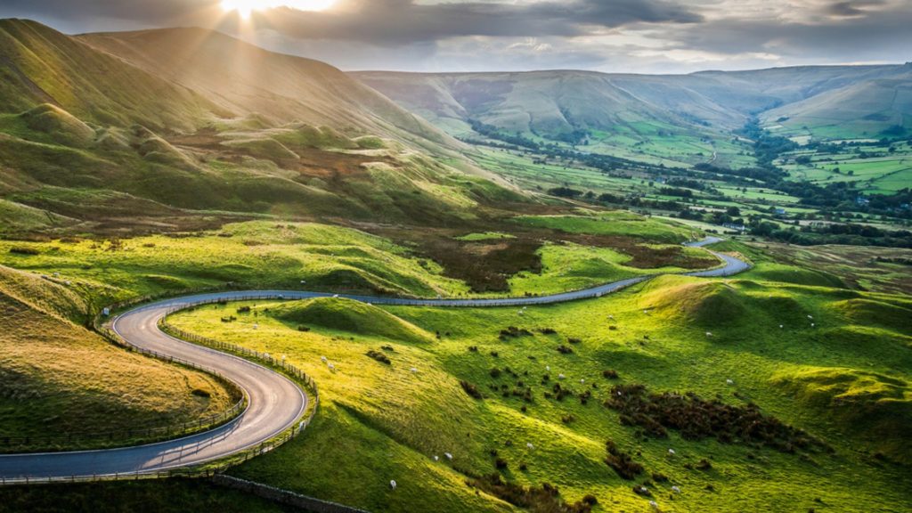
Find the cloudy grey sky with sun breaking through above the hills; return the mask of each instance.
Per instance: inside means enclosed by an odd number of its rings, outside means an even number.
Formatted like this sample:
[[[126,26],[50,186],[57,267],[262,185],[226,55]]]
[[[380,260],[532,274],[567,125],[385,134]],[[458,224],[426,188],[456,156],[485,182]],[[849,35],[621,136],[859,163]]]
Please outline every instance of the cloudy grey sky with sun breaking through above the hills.
[[[912,0],[0,0],[0,17],[70,34],[210,27],[347,70],[689,73],[912,61]]]

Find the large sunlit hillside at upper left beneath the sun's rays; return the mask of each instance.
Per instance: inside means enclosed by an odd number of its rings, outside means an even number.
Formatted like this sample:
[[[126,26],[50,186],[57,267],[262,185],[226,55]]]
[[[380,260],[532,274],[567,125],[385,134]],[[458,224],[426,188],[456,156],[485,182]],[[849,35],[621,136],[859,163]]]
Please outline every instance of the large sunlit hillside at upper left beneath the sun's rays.
[[[442,223],[522,200],[338,69],[216,32],[68,37],[3,20],[0,61],[6,234],[251,215]]]

